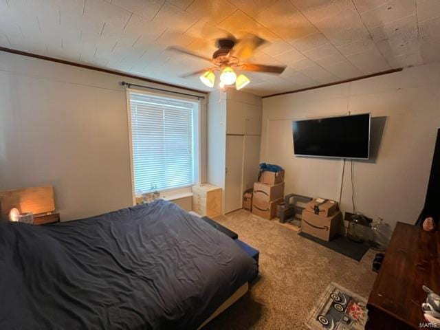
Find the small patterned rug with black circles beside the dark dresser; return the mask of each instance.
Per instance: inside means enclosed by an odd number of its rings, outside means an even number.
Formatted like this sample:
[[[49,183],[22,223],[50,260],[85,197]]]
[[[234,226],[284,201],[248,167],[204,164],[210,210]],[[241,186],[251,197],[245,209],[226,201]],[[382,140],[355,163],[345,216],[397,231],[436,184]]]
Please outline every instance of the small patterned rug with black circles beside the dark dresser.
[[[312,330],[362,330],[366,320],[366,299],[332,282],[316,302],[305,325]]]

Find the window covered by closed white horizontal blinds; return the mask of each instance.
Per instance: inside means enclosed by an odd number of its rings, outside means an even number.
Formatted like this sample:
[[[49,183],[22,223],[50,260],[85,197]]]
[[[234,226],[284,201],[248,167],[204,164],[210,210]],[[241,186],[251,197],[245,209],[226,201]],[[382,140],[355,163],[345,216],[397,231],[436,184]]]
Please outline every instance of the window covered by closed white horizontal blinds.
[[[129,91],[136,193],[198,180],[199,102]]]

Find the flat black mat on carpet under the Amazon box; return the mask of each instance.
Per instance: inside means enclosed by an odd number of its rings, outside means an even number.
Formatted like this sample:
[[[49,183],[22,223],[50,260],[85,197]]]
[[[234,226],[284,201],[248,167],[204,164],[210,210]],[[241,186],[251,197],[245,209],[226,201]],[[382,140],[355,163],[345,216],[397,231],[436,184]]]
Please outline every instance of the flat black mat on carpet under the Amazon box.
[[[306,234],[305,232],[300,232],[298,235],[305,237],[315,243],[318,243],[330,250],[336,251],[340,254],[344,254],[344,256],[348,256],[351,259],[355,259],[356,261],[360,261],[362,256],[369,250],[369,245],[365,243],[356,243],[347,239],[346,236],[335,236],[334,239],[327,242],[322,239],[318,239],[315,236],[311,236]]]

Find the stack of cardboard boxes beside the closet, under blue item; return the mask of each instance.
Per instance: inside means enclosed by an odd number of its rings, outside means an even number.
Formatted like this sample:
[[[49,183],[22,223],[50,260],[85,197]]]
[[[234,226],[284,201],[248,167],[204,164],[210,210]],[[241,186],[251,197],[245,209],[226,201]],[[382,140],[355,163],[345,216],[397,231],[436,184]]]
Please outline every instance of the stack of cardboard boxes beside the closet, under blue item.
[[[252,213],[265,219],[276,217],[276,206],[284,197],[284,170],[264,171],[254,183]]]

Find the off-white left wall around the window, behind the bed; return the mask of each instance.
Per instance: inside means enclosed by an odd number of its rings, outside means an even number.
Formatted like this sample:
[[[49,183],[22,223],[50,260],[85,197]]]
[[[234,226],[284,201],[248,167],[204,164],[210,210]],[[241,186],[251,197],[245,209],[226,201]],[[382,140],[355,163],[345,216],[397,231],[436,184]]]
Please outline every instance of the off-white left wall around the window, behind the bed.
[[[0,190],[52,185],[62,220],[130,206],[129,133],[121,80],[164,88],[0,52]]]

